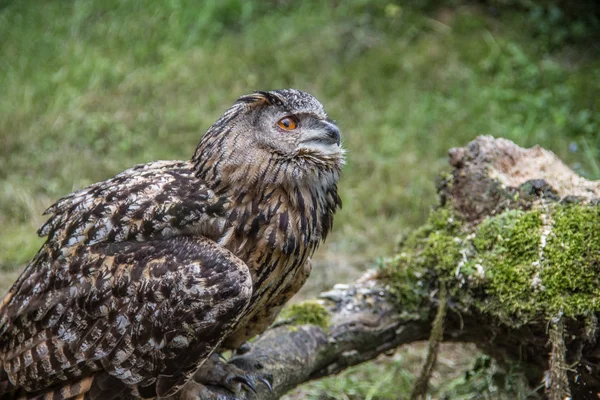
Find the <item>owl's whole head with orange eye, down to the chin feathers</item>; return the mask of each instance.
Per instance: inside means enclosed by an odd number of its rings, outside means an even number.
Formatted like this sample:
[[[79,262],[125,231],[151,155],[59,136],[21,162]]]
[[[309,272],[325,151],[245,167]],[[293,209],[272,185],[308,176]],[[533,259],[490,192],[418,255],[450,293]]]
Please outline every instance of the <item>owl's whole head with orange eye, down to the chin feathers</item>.
[[[298,180],[329,171],[337,180],[343,155],[340,131],[323,105],[282,89],[238,98],[204,134],[193,161],[213,177],[220,171],[221,178]]]

